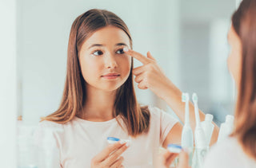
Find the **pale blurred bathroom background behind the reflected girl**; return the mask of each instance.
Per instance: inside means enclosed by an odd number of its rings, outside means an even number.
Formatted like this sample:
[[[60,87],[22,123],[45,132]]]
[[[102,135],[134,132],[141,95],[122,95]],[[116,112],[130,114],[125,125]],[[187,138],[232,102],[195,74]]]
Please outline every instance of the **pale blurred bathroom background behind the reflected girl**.
[[[70,27],[78,15],[92,8],[110,10],[122,18],[130,29],[134,50],[145,55],[150,51],[166,76],[182,92],[189,92],[190,96],[198,93],[199,108],[213,114],[217,124],[222,123],[225,115],[234,112],[236,93],[226,66],[226,35],[239,2],[1,0],[0,111],[6,116],[0,120],[1,133],[15,137],[14,132],[5,129],[15,130],[16,126],[10,125],[15,121],[12,116],[34,126],[41,116],[57,110],[66,76]],[[135,61],[134,66],[139,65]],[[154,105],[174,115],[150,90],[137,88],[136,92],[141,104]],[[1,145],[8,141],[2,138]]]

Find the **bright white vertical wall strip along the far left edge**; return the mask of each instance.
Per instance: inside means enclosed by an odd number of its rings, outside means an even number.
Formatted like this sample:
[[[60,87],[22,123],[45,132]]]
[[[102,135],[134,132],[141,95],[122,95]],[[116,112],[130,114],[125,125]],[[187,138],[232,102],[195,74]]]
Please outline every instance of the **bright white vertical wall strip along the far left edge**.
[[[16,2],[0,1],[0,160],[1,167],[16,168]]]

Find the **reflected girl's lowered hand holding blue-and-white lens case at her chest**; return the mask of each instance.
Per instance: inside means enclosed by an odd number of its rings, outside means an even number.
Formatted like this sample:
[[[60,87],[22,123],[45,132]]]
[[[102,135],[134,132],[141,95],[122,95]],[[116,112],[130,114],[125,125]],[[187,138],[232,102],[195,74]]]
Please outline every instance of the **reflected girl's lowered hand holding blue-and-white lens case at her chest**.
[[[127,144],[127,145],[126,145]],[[90,168],[121,168],[123,157],[120,156],[127,148],[129,143],[118,143],[110,144],[102,152],[92,158],[90,162]]]

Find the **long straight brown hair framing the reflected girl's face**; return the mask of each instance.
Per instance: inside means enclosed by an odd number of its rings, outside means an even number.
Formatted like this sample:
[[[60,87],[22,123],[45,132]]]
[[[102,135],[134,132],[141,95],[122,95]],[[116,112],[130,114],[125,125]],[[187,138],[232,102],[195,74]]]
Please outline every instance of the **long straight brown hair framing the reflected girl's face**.
[[[121,18],[118,18],[116,14],[107,10],[93,9],[78,16],[74,20],[70,30],[67,50],[66,83],[61,104],[57,111],[43,117],[42,120],[67,123],[82,111],[82,104],[86,101],[86,81],[82,77],[78,52],[87,37],[90,37],[96,30],[108,25],[122,29],[130,38],[130,46],[132,47],[129,29],[125,22]],[[128,134],[136,136],[149,130],[150,112],[148,107],[140,107],[136,100],[132,68],[133,59],[131,61],[130,76],[117,90],[113,115],[114,117],[121,115],[122,120],[126,124]]]

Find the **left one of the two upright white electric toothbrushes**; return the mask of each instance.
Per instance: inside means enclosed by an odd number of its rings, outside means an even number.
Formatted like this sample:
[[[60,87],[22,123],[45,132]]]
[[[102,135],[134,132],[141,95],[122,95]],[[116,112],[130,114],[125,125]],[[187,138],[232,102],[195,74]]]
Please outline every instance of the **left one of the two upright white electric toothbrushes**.
[[[190,152],[190,166],[192,164],[192,151],[194,147],[193,131],[190,127],[190,96],[188,93],[182,93],[182,102],[186,103],[185,106],[185,124],[182,129],[182,148],[186,148]]]

